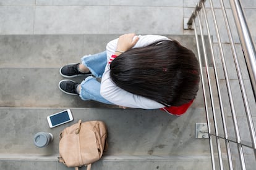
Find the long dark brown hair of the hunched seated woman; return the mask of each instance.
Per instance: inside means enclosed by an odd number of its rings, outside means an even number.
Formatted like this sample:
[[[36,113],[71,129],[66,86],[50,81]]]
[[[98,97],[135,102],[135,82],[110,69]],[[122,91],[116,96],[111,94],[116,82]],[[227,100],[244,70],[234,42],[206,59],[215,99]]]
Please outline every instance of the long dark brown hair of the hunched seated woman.
[[[179,106],[195,98],[200,76],[192,51],[163,40],[119,55],[110,65],[110,78],[132,94]]]

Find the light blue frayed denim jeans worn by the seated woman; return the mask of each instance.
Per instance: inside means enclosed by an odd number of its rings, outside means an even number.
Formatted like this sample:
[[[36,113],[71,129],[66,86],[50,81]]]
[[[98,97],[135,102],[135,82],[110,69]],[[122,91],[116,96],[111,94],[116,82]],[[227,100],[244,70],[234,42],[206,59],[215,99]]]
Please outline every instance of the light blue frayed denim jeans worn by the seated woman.
[[[101,96],[100,82],[96,79],[101,78],[105,71],[107,63],[106,51],[93,55],[85,55],[82,57],[81,62],[91,71],[93,76],[88,76],[80,84],[80,98],[82,100],[95,100],[97,102],[113,105],[113,103]]]

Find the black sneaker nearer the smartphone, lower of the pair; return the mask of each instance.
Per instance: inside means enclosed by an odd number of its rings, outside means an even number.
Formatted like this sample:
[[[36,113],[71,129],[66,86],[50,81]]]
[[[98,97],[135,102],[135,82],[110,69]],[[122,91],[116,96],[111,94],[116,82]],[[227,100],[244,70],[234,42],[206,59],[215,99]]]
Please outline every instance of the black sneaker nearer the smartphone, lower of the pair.
[[[77,93],[77,86],[79,86],[79,83],[69,79],[63,79],[59,82],[59,89],[66,94],[79,95]]]

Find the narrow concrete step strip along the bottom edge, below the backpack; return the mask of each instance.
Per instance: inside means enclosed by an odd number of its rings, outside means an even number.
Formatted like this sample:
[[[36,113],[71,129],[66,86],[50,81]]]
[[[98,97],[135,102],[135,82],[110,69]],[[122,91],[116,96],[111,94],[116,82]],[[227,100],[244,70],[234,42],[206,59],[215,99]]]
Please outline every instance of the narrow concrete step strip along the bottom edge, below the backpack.
[[[46,167],[54,170],[74,169],[58,163],[58,155],[1,155],[1,169],[42,170]],[[85,168],[80,168],[85,169]],[[209,155],[196,156],[103,156],[93,163],[92,169],[211,169]]]

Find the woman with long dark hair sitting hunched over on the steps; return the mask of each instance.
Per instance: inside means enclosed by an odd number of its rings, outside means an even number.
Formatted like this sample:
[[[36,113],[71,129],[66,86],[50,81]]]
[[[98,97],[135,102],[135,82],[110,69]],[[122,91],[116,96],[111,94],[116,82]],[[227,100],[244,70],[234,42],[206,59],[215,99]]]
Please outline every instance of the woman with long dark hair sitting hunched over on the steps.
[[[62,80],[61,91],[122,108],[162,110],[181,115],[198,91],[199,67],[192,51],[164,36],[124,34],[106,51],[60,69],[62,76],[88,76],[82,83]],[[101,78],[101,83],[96,80]]]

